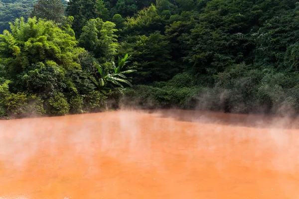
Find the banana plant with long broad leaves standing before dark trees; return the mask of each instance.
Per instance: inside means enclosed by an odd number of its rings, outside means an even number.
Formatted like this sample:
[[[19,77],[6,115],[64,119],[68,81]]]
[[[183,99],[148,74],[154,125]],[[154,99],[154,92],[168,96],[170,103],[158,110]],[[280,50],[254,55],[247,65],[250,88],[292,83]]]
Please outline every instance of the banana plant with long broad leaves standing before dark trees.
[[[108,87],[109,83],[113,83],[122,88],[124,88],[124,86],[121,83],[125,83],[125,84],[129,85],[130,87],[132,87],[132,84],[131,84],[132,78],[127,78],[125,76],[125,74],[133,73],[136,70],[122,71],[124,66],[128,63],[127,59],[128,59],[128,54],[126,54],[123,59],[121,59],[119,57],[118,66],[116,66],[115,63],[113,62],[112,64],[113,64],[114,72],[112,74],[110,74],[110,73],[105,74],[105,71],[103,70],[102,66],[100,66],[98,63],[94,62],[97,72],[99,74],[99,76],[97,76],[98,77],[97,85],[98,85],[99,90],[102,93],[107,95],[109,92],[111,92],[111,88]]]

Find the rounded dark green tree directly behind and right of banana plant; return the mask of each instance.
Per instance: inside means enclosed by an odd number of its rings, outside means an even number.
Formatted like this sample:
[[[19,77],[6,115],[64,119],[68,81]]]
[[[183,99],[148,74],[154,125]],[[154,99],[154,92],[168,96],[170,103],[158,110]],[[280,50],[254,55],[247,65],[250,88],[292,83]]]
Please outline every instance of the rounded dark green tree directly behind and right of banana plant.
[[[134,82],[149,84],[171,79],[179,67],[173,67],[170,48],[166,37],[158,31],[149,36],[135,36],[130,43],[122,43],[121,52],[131,54],[132,67],[138,70]]]

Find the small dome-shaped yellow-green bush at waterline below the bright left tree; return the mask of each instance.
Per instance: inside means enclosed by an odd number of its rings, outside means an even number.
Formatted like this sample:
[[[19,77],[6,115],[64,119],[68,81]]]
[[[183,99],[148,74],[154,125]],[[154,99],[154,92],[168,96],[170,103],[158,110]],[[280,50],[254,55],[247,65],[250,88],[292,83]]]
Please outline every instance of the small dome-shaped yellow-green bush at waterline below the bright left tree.
[[[54,96],[48,100],[51,114],[66,115],[70,111],[70,104],[62,93],[55,92]]]

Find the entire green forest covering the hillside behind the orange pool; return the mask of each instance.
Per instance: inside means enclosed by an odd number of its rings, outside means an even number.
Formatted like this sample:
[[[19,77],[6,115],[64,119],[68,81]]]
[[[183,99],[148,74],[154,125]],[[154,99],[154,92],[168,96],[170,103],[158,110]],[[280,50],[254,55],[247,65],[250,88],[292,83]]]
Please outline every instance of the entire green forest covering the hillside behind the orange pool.
[[[296,0],[1,0],[0,118],[299,113]]]

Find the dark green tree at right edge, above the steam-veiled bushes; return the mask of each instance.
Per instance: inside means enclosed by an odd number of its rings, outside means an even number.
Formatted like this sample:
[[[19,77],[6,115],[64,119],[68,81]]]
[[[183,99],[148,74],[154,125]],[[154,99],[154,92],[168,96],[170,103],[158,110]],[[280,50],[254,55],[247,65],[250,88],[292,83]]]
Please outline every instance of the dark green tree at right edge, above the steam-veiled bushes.
[[[257,46],[254,49],[256,65],[299,70],[298,21],[299,7],[282,10],[252,34]]]

